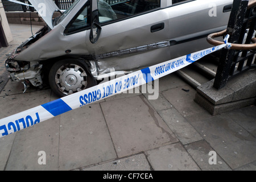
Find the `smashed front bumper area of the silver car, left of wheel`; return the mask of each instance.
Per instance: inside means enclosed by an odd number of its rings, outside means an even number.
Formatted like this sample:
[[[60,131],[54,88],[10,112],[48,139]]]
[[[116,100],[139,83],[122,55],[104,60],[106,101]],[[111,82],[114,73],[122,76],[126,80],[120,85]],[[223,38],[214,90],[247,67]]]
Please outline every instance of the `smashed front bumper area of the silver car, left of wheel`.
[[[42,81],[42,68],[43,65],[38,61],[16,61],[14,59],[7,59],[5,63],[6,70],[10,72],[10,79],[12,81],[22,81],[23,84],[28,85],[31,83],[33,86],[40,86]]]

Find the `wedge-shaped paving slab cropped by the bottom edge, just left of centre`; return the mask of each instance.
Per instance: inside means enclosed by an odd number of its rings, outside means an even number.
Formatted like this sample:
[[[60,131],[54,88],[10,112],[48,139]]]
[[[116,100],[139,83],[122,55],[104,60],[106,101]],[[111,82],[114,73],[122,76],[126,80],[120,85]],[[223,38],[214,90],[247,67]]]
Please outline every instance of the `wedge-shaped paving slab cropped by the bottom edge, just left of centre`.
[[[150,169],[146,156],[138,154],[128,158],[113,160],[105,164],[82,168],[82,171],[150,171]]]

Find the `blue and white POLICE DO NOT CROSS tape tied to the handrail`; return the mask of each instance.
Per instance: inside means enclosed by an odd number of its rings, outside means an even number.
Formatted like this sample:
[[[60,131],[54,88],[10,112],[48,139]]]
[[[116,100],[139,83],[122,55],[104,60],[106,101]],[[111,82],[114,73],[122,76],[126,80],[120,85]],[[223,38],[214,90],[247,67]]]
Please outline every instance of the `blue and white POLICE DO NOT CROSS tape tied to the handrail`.
[[[56,117],[57,115],[66,113],[67,111],[92,104],[93,102],[103,100],[114,96],[115,94],[119,94],[154,81],[160,77],[184,68],[212,52],[218,51],[222,48],[230,48],[228,37],[229,36],[226,36],[225,38],[225,44],[220,46],[204,49],[203,51],[198,51],[176,59],[165,61],[80,92],[73,93],[69,96],[59,98],[55,101],[28,109],[21,113],[0,119],[0,138],[25,129],[26,127],[46,121],[47,119]]]

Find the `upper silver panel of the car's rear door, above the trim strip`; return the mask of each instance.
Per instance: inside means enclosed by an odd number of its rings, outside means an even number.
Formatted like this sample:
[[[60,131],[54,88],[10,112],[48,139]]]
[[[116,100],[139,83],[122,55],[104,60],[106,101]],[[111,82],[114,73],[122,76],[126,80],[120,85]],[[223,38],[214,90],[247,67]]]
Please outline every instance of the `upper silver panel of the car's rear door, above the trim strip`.
[[[171,38],[193,36],[196,32],[226,26],[230,13],[222,11],[225,5],[232,3],[232,0],[197,0],[170,7]],[[211,15],[213,6],[216,16]]]

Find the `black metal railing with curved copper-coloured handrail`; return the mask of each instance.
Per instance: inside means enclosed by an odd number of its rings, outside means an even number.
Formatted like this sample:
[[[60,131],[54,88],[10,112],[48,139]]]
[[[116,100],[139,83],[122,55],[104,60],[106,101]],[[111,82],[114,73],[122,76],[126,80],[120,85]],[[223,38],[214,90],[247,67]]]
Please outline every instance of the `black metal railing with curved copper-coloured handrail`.
[[[218,64],[214,88],[224,88],[228,80],[249,69],[256,68],[256,0],[234,0],[228,28],[210,34],[207,41],[214,46],[223,44],[214,38],[230,35],[231,49],[222,49]],[[252,43],[251,43],[252,42]]]

